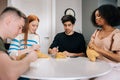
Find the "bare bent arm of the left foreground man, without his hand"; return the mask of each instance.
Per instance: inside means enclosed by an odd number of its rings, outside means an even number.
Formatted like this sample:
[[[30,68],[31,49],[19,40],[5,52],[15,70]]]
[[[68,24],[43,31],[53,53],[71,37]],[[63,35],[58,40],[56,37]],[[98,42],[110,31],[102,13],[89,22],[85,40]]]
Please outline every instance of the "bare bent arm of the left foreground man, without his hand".
[[[17,80],[21,74],[23,74],[29,68],[30,61],[24,59],[21,61],[13,61],[6,53],[0,55],[0,77],[3,80]]]

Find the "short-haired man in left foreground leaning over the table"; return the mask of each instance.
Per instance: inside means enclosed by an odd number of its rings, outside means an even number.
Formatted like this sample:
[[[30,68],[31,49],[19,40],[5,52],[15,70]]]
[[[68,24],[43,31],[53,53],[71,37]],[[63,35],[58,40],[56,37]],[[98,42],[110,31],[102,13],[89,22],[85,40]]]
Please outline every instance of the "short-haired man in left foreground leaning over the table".
[[[4,46],[4,40],[22,32],[25,22],[26,16],[14,7],[6,7],[0,14],[0,80],[17,80],[29,69],[30,63],[37,60],[35,51],[20,61],[11,60]]]

